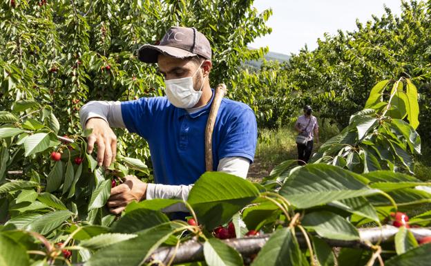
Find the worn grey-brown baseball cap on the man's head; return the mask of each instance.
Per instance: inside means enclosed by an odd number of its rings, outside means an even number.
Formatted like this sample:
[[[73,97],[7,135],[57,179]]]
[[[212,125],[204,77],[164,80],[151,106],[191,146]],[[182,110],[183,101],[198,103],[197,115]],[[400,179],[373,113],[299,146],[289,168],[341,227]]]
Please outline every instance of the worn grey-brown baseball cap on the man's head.
[[[171,27],[160,44],[141,46],[137,57],[145,63],[157,63],[159,54],[179,59],[200,55],[211,60],[211,46],[207,37],[195,28]]]

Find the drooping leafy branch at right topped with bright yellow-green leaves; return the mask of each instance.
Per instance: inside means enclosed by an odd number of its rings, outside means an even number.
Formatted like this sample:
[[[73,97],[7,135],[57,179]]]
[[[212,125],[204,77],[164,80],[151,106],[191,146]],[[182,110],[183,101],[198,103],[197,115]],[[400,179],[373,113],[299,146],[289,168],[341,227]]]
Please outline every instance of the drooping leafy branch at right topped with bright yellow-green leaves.
[[[404,83],[406,91],[402,89]],[[386,102],[383,93],[388,84],[384,81],[374,86],[366,109],[352,115],[340,134],[320,146],[313,162],[327,162],[358,173],[381,169],[413,173],[414,155],[421,153],[421,137],[415,131],[419,109],[405,106],[417,107],[417,93],[412,92],[416,89],[410,79],[401,78],[394,82]],[[394,102],[396,95],[405,98]]]

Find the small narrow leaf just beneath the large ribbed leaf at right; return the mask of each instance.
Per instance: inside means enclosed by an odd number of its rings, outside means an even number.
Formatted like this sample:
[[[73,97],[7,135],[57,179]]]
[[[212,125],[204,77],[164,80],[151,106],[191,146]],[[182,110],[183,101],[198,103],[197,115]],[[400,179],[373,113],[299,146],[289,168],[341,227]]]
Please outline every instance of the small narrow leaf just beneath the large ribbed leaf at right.
[[[345,200],[335,200],[328,204],[350,213],[354,213],[358,216],[369,218],[374,222],[380,223],[379,216],[376,213],[376,209],[368,202],[366,198],[346,198]]]

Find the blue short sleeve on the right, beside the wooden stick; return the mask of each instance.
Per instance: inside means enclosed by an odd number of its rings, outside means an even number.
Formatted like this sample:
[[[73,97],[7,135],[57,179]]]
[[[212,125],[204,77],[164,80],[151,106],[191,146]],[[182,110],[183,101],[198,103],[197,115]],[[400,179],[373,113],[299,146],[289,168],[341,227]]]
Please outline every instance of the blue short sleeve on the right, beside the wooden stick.
[[[227,129],[218,147],[218,158],[242,157],[253,162],[258,140],[256,116],[243,108],[229,118]]]

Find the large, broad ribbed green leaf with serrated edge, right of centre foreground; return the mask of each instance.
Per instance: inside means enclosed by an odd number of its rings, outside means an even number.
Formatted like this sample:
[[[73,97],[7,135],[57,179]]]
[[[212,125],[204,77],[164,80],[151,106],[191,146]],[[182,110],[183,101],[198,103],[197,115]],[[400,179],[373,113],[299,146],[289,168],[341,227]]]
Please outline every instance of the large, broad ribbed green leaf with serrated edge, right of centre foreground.
[[[327,164],[307,164],[291,173],[280,194],[300,209],[324,205],[334,200],[378,193],[363,182],[361,175]]]

